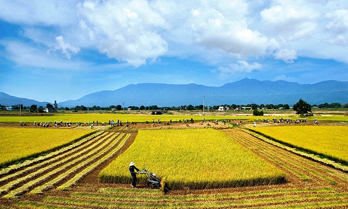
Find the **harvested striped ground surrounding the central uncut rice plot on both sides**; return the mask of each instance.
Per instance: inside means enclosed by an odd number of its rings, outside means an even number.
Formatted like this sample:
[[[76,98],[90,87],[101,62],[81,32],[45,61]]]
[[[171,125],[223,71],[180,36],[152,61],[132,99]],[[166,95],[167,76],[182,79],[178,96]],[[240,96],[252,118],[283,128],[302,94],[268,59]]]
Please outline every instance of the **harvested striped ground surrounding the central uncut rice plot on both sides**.
[[[188,123],[171,128],[205,126]],[[0,170],[0,208],[348,208],[348,173],[276,147],[241,128],[221,131],[284,171],[286,183],[163,194],[145,185],[132,189],[98,182],[98,173],[133,143],[138,129],[156,127],[169,126],[132,124],[100,130],[80,144]]]

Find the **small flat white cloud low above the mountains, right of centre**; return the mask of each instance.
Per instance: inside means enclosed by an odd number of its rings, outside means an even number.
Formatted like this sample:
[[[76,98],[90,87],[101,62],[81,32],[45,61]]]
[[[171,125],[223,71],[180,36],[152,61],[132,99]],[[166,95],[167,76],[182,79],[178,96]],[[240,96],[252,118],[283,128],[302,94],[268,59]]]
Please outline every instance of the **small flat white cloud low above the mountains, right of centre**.
[[[262,65],[254,62],[249,64],[245,60],[238,60],[237,63],[230,64],[228,67],[219,67],[214,72],[221,74],[234,74],[234,73],[250,73],[253,70],[261,69]]]

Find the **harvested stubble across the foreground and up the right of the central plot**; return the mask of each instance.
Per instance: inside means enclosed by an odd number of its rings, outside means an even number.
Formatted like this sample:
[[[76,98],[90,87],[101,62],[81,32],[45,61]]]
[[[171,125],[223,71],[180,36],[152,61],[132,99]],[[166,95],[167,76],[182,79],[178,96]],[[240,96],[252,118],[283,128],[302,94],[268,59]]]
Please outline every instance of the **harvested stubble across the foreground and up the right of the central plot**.
[[[287,183],[163,194],[129,184],[102,184],[93,178],[69,193],[17,198],[4,208],[346,208],[348,175],[310,161],[240,129],[221,130],[244,149],[286,173]],[[106,135],[101,138],[105,138]],[[116,158],[117,159],[117,158]],[[127,163],[128,164],[128,163]],[[126,166],[127,167],[127,166]],[[255,170],[257,172],[257,170]],[[0,199],[1,201],[2,199]],[[0,202],[0,206],[1,202]],[[3,205],[4,206],[4,205]]]

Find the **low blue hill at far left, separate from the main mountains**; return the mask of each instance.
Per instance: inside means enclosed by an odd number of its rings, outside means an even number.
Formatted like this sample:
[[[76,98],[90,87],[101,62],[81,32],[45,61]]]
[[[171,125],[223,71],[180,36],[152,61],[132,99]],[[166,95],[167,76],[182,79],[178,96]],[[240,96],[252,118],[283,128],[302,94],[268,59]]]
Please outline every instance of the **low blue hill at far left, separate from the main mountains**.
[[[0,105],[3,106],[13,106],[13,105],[19,105],[19,101],[23,107],[30,107],[31,105],[37,105],[37,107],[42,106],[46,107],[47,103],[51,102],[40,102],[33,99],[27,99],[27,98],[19,98],[15,96],[8,95],[4,92],[0,92]]]

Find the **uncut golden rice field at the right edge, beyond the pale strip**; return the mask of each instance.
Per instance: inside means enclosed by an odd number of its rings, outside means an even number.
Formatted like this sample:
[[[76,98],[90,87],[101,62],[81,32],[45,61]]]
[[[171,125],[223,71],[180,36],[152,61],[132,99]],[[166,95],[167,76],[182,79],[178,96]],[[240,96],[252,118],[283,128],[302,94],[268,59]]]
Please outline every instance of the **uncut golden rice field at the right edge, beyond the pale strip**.
[[[298,149],[348,163],[347,126],[259,127],[255,131]]]

